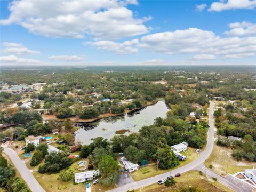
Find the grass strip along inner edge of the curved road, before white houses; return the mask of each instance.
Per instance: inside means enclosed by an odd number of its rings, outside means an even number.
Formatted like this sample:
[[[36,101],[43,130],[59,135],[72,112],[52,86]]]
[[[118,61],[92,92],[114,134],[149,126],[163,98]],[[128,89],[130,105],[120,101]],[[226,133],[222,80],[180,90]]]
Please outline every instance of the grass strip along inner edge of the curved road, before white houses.
[[[195,149],[190,147],[188,147],[186,152],[181,152],[181,153],[187,156],[187,159],[185,161],[180,161],[180,165],[177,167],[174,167],[173,169],[177,169],[178,167],[184,166],[194,161],[194,159],[196,159],[199,156],[199,154],[195,152]],[[153,177],[158,174],[166,173],[168,171],[170,170],[162,170],[162,169],[157,170],[157,165],[152,165],[152,166],[148,165],[148,166],[141,167],[139,170],[131,173],[131,176],[135,181],[139,181],[142,179]]]

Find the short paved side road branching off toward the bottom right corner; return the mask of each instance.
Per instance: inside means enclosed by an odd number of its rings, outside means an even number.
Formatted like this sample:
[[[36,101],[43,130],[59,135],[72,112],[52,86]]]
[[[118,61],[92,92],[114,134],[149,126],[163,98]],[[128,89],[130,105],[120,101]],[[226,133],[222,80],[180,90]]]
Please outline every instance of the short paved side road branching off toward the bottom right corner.
[[[195,167],[195,170],[202,171],[203,173],[206,172],[208,178],[215,177],[217,178],[218,182],[222,183],[222,185],[225,185],[226,187],[229,187],[236,192],[251,192],[253,189],[253,187],[229,175],[227,175],[226,177],[222,177],[221,175],[214,173],[212,170],[206,168],[203,163]]]

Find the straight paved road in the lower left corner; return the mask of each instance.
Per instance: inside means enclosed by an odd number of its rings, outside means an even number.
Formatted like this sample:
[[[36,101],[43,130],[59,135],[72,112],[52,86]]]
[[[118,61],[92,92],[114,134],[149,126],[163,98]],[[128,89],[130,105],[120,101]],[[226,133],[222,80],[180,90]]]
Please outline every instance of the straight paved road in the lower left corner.
[[[17,168],[23,180],[26,181],[28,187],[32,192],[45,192],[41,185],[37,182],[34,175],[28,170],[25,163],[23,163],[17,153],[11,148],[4,148],[4,153],[9,156],[14,166]]]

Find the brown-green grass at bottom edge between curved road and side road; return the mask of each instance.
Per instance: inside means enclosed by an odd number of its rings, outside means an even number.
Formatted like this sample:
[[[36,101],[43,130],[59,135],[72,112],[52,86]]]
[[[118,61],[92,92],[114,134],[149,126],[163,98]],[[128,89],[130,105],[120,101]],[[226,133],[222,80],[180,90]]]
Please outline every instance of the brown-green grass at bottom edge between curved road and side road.
[[[144,191],[154,191],[154,192],[162,192],[162,191],[181,191],[186,187],[200,187],[206,191],[214,191],[214,192],[231,192],[233,190],[223,186],[221,183],[214,181],[209,182],[204,176],[199,175],[198,171],[188,171],[183,173],[181,177],[175,178],[177,183],[174,186],[166,187],[165,185],[159,185],[158,183],[154,183],[153,185],[149,185],[143,188],[136,189],[135,192],[144,192]]]

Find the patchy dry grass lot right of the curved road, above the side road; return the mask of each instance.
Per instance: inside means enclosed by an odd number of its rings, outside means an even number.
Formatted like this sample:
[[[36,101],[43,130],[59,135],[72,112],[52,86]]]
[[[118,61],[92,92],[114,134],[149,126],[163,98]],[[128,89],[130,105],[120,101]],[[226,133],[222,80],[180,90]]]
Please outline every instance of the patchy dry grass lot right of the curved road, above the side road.
[[[238,171],[251,169],[256,164],[245,160],[238,162],[232,156],[232,150],[226,147],[218,146],[214,143],[214,148],[210,157],[205,161],[205,165],[213,165],[212,170],[220,175],[227,173],[234,174]]]

